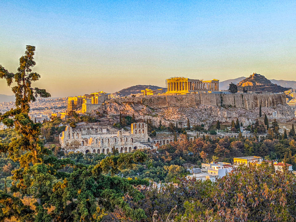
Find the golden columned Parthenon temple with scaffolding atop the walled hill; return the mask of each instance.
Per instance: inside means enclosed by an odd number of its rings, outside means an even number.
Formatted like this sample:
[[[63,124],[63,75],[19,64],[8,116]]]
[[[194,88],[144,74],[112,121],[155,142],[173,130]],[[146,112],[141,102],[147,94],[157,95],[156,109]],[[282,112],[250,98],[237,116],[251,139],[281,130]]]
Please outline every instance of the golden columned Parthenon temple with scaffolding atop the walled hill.
[[[195,80],[185,77],[171,77],[167,79],[167,93],[198,91],[219,91],[219,80]]]

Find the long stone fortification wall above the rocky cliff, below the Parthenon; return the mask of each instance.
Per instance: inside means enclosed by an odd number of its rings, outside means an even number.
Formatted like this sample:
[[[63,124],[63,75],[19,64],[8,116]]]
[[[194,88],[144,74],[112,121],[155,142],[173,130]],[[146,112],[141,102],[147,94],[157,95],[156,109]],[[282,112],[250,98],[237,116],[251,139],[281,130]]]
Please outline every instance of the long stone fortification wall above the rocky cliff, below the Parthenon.
[[[130,98],[128,101],[139,103],[139,98]],[[286,105],[286,95],[281,94],[213,94],[199,93],[186,95],[167,95],[144,97],[142,105],[151,108],[165,107],[195,107],[198,105],[212,105],[232,108],[254,109],[262,107],[276,107]]]

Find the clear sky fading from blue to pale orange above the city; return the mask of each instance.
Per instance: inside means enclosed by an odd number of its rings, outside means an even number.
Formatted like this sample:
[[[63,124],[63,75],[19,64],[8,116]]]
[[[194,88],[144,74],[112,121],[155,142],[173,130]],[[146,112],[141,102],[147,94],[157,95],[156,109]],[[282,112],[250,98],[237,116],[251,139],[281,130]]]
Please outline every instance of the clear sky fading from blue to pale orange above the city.
[[[2,1],[0,64],[34,45],[52,97],[253,72],[296,80],[296,1]],[[0,79],[0,94],[12,95]]]

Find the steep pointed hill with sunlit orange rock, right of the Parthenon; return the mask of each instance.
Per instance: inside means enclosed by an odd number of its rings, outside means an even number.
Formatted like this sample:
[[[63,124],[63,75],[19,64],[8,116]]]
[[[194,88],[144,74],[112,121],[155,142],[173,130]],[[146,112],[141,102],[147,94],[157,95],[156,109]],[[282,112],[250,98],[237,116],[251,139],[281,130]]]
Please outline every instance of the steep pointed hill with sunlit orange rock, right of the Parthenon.
[[[263,92],[284,92],[288,88],[273,84],[270,80],[266,79],[257,73],[253,73],[248,78],[241,80],[237,84],[237,89],[243,91],[245,88],[248,91],[263,91]]]

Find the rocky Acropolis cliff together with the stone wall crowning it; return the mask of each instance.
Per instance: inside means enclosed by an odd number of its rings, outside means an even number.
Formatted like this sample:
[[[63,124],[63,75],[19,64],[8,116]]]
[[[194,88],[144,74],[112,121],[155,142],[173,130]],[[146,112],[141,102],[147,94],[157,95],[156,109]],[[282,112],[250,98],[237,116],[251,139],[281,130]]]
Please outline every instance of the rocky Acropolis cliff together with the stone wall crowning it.
[[[97,110],[109,115],[135,115],[136,119],[149,118],[158,125],[179,122],[186,126],[187,117],[190,125],[209,127],[215,121],[231,122],[238,118],[247,126],[259,118],[259,106],[269,119],[289,121],[294,112],[286,105],[286,95],[275,94],[213,94],[196,93],[185,95],[158,95],[150,97],[118,98],[105,101]]]

